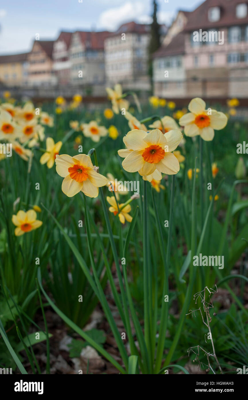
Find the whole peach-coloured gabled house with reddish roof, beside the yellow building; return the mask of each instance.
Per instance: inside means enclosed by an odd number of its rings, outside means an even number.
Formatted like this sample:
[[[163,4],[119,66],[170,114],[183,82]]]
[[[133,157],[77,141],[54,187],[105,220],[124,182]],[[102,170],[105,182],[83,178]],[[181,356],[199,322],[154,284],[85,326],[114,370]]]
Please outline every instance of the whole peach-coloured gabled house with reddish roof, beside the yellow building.
[[[34,40],[28,54],[28,84],[30,86],[53,86],[56,77],[53,74],[53,40]]]

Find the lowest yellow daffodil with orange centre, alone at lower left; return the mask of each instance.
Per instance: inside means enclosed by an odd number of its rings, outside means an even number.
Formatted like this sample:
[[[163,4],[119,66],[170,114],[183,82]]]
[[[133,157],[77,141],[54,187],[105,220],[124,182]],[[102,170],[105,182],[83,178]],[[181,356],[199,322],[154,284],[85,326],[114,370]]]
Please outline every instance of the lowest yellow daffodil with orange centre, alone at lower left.
[[[34,210],[18,211],[16,215],[12,215],[12,222],[17,227],[15,229],[16,236],[31,232],[31,230],[37,229],[42,225],[42,221],[37,220],[37,214]]]

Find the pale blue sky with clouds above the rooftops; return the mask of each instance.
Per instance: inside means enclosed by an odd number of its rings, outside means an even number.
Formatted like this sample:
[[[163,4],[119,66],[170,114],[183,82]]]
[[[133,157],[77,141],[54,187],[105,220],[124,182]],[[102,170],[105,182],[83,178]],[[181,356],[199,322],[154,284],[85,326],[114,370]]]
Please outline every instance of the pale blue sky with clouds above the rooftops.
[[[167,1],[167,2],[165,2]],[[169,25],[177,10],[192,11],[201,0],[157,0],[159,23]],[[31,49],[35,34],[54,40],[61,30],[114,31],[124,22],[150,23],[152,0],[0,1],[0,54]]]

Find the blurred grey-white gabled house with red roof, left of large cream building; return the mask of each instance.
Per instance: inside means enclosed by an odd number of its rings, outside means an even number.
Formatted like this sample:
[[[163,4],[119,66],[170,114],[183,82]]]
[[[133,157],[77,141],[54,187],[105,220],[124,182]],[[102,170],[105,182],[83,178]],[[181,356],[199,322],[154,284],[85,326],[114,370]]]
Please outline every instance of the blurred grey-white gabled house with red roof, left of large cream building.
[[[69,46],[70,82],[104,84],[104,40],[109,32],[73,32]]]

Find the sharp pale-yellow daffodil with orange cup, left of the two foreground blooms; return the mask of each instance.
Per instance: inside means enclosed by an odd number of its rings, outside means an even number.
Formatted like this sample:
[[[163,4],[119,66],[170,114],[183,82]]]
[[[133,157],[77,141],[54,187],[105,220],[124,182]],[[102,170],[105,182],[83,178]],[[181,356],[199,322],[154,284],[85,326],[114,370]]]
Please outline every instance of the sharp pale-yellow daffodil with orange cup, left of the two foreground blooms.
[[[62,182],[62,192],[73,197],[80,191],[86,196],[97,197],[98,188],[108,182],[105,176],[94,170],[90,156],[79,154],[71,157],[67,154],[56,156],[56,171],[65,178]]]

